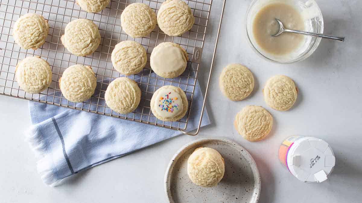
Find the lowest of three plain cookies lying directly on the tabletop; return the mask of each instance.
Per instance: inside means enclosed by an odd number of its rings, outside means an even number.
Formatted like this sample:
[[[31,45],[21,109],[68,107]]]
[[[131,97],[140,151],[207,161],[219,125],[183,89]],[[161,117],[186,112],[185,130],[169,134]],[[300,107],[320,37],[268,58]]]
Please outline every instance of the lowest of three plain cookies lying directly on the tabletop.
[[[269,134],[273,117],[263,107],[246,106],[237,113],[234,126],[244,139],[256,142]]]

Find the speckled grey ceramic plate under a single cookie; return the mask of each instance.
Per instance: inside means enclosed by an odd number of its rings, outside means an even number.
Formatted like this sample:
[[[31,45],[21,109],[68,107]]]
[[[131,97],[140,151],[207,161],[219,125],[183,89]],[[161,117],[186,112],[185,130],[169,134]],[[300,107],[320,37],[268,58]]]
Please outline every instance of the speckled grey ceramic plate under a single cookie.
[[[216,187],[199,187],[187,175],[187,160],[197,147],[214,148],[224,158],[225,174]],[[260,188],[260,175],[253,157],[240,144],[226,138],[203,138],[186,144],[173,156],[165,174],[165,191],[172,203],[256,203]]]

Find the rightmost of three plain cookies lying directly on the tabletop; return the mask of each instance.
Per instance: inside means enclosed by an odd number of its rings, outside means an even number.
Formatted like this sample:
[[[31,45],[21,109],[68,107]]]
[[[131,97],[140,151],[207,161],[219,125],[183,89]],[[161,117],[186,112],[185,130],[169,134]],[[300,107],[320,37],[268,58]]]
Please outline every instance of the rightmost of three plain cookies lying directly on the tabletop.
[[[296,101],[298,90],[292,79],[285,75],[275,75],[266,81],[264,100],[271,108],[287,111]]]

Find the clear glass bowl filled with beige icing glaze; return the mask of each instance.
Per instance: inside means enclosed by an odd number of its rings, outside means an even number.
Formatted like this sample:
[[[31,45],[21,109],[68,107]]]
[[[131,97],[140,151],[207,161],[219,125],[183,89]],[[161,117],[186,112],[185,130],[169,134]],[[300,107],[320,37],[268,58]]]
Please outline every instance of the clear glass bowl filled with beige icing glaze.
[[[323,16],[315,0],[253,0],[247,12],[247,36],[254,51],[269,61],[290,64],[312,55],[321,38],[282,33],[275,18],[287,29],[323,33]]]

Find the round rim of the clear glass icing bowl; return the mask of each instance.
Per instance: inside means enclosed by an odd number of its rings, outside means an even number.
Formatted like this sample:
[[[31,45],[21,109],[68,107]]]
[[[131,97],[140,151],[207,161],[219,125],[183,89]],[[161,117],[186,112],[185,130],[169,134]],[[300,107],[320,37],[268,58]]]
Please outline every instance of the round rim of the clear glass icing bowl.
[[[249,46],[251,46],[251,48],[253,49],[253,51],[255,53],[257,53],[257,55],[261,56],[263,59],[265,59],[266,61],[271,61],[271,62],[275,62],[275,63],[278,63],[278,64],[292,64],[292,63],[295,63],[295,62],[299,62],[299,61],[303,61],[304,59],[307,59],[308,57],[310,57],[315,51],[316,49],[318,48],[320,42],[321,42],[321,38],[317,38],[316,39],[316,42],[313,44],[313,47],[310,49],[310,51],[306,54],[306,55],[303,55],[302,57],[299,57],[299,58],[296,58],[296,59],[293,59],[293,60],[290,60],[290,61],[276,61],[276,60],[273,60],[273,59],[270,59],[266,56],[264,56],[260,51],[258,51],[258,49],[253,45],[253,43],[251,42],[251,39],[250,39],[250,36],[249,36],[249,32],[248,32],[248,20],[249,20],[249,13],[250,13],[250,10],[252,8],[252,6],[257,2],[257,1],[260,1],[260,0],[252,0],[251,3],[249,4],[249,7],[248,7],[248,10],[247,10],[247,16],[245,18],[245,30],[246,30],[246,33],[247,33],[247,38],[248,38],[248,42],[249,42]],[[320,7],[319,5],[317,4],[317,2],[315,0],[310,0],[310,1],[313,1],[313,3],[317,6],[316,8],[318,9],[318,12],[320,13],[320,22],[321,22],[321,29],[320,29],[320,32],[319,33],[323,33],[324,32],[324,19],[323,19],[323,13],[321,12],[320,10]]]

